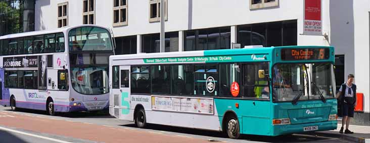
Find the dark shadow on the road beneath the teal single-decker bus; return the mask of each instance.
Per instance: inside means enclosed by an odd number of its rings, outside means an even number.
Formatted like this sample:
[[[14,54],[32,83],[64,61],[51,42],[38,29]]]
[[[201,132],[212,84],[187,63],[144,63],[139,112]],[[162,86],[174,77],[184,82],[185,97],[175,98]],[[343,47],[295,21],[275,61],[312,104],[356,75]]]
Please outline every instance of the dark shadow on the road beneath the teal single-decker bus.
[[[121,125],[121,126],[137,128],[135,124],[126,124],[126,125]],[[186,134],[192,134],[192,135],[228,138],[228,136],[225,133],[218,132],[218,131],[174,127],[174,126],[167,126],[167,125],[148,124],[146,129],[186,133]],[[314,140],[322,140],[322,139],[328,139],[328,138],[314,136],[314,135],[303,135],[303,134],[292,134],[292,135],[281,135],[281,136],[263,136],[263,135],[242,134],[241,137],[239,138],[239,140],[262,141],[262,142],[301,142],[301,141],[314,141]]]

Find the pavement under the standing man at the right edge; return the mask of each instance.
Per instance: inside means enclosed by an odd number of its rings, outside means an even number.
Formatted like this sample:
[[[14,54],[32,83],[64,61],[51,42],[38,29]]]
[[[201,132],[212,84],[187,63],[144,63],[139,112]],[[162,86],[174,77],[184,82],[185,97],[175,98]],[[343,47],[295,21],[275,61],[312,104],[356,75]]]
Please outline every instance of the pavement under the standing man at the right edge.
[[[365,142],[370,143],[370,126],[358,126],[358,125],[350,125],[349,130],[353,131],[353,134],[341,134],[339,130],[341,129],[342,124],[338,123],[338,127],[336,130],[329,130],[329,131],[317,131],[314,134],[320,136],[330,136],[330,137],[337,137],[343,138],[346,140],[354,141],[354,142]],[[346,126],[344,126],[344,129]]]

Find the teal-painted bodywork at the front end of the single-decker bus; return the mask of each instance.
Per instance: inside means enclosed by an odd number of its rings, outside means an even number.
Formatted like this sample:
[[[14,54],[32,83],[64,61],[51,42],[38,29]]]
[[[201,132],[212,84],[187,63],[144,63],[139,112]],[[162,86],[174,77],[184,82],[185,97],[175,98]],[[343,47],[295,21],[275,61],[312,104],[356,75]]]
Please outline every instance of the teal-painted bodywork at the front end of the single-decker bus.
[[[213,50],[205,51],[204,56],[232,56],[238,55],[237,58],[232,62],[253,62],[251,55],[257,57],[266,57],[265,62],[269,62],[270,68],[277,63],[302,63],[303,61],[283,61],[281,60],[280,50],[288,48],[326,48],[330,50],[330,57],[327,60],[305,60],[305,63],[318,63],[318,62],[329,62],[334,64],[335,57],[333,46],[281,46],[281,47],[263,47],[260,49],[233,49],[233,50]],[[243,55],[243,56],[241,56]],[[278,55],[278,56],[276,56]],[[243,58],[242,58],[243,57]],[[222,61],[216,61],[222,62]],[[207,63],[207,62],[206,62]],[[210,62],[212,63],[212,61]],[[272,72],[269,72],[269,76]],[[271,88],[271,87],[270,87]],[[318,130],[333,130],[337,129],[337,120],[328,121],[330,114],[337,114],[337,100],[331,99],[327,103],[321,101],[301,101],[297,105],[292,105],[290,102],[273,103],[272,95],[270,94],[270,100],[247,100],[247,99],[215,99],[218,113],[235,112],[240,122],[240,128],[242,134],[256,134],[256,135],[284,135],[292,133],[303,132],[305,126],[318,126]],[[235,104],[239,104],[239,108],[235,107]],[[319,108],[318,108],[319,107]],[[315,109],[317,114],[326,116],[322,117],[305,117],[302,112],[307,109]],[[295,110],[295,111],[291,111]],[[288,112],[291,112],[288,115]],[[317,115],[314,115],[317,116]],[[272,119],[281,118],[301,118],[307,120],[308,123],[302,122],[302,120],[293,122],[292,124],[286,125],[272,125]],[[219,115],[220,124],[222,125],[223,115]]]

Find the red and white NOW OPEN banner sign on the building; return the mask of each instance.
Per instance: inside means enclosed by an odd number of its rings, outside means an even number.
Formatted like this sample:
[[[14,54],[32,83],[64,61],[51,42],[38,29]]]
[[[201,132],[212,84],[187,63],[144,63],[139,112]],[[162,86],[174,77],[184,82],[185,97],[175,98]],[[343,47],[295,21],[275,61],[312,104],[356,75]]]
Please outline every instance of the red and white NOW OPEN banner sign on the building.
[[[321,0],[304,1],[303,34],[322,35]]]

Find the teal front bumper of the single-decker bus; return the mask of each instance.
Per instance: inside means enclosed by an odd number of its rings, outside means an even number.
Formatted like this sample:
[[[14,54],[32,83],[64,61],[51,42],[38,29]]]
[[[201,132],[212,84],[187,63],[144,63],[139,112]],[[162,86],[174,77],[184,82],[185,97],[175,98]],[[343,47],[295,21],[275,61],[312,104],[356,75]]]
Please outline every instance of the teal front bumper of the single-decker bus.
[[[337,120],[316,122],[316,123],[305,123],[305,124],[288,124],[288,125],[273,125],[272,136],[292,134],[292,133],[306,133],[312,131],[324,131],[337,129]],[[317,126],[317,130],[304,131],[304,127]]]

